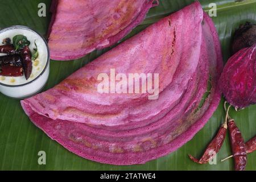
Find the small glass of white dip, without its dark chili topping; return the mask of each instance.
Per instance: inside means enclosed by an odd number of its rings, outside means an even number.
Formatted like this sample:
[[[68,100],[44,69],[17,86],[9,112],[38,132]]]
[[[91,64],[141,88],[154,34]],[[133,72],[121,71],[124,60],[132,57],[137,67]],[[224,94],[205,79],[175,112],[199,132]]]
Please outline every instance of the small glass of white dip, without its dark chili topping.
[[[28,80],[25,76],[0,76],[0,92],[13,98],[26,98],[38,93],[46,84],[49,76],[49,49],[46,40],[37,32],[24,26],[13,26],[0,31],[0,45],[2,40],[10,38],[13,43],[15,35],[24,35],[30,41],[30,51],[34,53],[35,43],[38,48],[38,57],[32,60],[32,73]],[[0,53],[0,56],[6,54]]]

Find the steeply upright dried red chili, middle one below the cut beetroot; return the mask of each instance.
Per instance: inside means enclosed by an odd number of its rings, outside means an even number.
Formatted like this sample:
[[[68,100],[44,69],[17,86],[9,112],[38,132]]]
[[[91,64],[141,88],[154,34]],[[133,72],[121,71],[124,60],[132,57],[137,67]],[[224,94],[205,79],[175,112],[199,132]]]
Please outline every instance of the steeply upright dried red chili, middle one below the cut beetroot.
[[[241,131],[238,129],[234,119],[228,122],[229,138],[232,146],[233,158],[236,171],[244,171],[246,167],[246,146]]]

